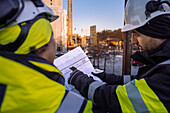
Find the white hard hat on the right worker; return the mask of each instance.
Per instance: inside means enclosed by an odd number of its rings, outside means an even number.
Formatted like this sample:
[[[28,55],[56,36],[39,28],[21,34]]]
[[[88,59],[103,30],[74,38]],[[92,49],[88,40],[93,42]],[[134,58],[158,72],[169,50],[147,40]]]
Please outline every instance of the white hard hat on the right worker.
[[[122,32],[139,28],[164,14],[170,14],[170,0],[128,0]]]

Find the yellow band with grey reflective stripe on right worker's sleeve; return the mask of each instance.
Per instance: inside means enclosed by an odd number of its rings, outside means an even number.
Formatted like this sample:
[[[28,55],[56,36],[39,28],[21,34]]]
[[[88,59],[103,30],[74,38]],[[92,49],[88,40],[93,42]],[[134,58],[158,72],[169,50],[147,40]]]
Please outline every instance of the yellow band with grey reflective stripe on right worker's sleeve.
[[[134,79],[126,85],[119,85],[116,94],[122,112],[168,113],[163,103],[147,85],[145,79]]]

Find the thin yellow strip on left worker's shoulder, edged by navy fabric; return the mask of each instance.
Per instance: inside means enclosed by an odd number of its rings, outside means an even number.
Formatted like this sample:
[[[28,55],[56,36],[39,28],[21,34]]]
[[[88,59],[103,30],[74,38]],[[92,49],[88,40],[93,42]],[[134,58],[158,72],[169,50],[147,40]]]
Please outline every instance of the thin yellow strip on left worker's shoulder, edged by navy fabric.
[[[41,62],[36,62],[36,61],[29,61],[29,62],[32,63],[32,64],[34,64],[34,65],[36,65],[36,66],[38,66],[38,67],[41,68],[41,69],[48,70],[48,71],[51,71],[51,72],[57,72],[57,73],[59,73],[60,75],[63,75],[63,74],[61,73],[61,71],[56,70],[56,67],[54,67],[54,66],[50,66],[50,65],[48,65],[48,64],[41,63]]]

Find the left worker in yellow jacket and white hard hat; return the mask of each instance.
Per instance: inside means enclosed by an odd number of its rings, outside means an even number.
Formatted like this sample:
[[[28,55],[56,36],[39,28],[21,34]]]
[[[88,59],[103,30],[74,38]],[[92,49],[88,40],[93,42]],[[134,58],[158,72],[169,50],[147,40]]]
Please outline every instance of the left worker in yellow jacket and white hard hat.
[[[58,15],[41,0],[1,0],[0,11],[0,113],[102,112],[65,90],[53,65]]]

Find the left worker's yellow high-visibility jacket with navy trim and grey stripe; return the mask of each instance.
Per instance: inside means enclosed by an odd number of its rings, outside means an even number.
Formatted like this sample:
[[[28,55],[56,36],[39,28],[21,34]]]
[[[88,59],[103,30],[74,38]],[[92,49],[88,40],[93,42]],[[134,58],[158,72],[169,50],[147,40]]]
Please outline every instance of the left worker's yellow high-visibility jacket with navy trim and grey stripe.
[[[0,52],[0,113],[91,113],[91,101],[66,91],[62,73],[36,55]]]

